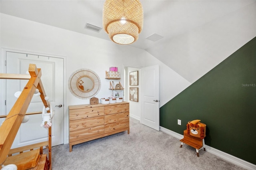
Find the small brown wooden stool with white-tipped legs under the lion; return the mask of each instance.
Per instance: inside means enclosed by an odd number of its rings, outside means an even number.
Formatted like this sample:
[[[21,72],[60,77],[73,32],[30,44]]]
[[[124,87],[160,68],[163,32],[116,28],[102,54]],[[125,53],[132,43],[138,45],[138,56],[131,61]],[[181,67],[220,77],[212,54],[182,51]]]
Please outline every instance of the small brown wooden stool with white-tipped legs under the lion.
[[[187,134],[187,130],[184,130],[183,134],[184,134],[184,138],[180,140],[180,142],[181,142],[180,148],[182,147],[182,145],[184,143],[189,146],[192,146],[193,148],[196,149],[197,156],[199,156],[198,151],[200,149],[204,148],[204,151],[205,151],[204,139],[197,138],[197,137]]]

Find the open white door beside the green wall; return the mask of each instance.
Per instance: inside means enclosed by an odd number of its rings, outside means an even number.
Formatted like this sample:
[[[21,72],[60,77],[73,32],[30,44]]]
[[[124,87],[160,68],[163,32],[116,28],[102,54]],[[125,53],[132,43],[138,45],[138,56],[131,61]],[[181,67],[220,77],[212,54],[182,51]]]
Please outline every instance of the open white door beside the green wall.
[[[142,68],[141,123],[155,130],[159,123],[159,65]]]

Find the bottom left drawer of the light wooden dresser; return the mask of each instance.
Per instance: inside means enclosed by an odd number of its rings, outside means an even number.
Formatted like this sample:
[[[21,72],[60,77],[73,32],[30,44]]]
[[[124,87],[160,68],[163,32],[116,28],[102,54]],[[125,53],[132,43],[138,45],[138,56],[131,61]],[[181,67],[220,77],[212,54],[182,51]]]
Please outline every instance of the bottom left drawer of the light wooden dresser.
[[[69,142],[90,138],[100,134],[104,134],[104,125],[72,131],[69,133]]]

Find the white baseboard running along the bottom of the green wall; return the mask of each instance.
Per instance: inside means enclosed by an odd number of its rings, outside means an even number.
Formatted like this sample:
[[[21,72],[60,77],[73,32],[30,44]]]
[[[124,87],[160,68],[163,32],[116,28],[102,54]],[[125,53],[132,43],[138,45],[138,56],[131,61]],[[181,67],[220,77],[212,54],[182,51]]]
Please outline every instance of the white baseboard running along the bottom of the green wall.
[[[160,127],[160,131],[162,132],[165,132],[167,134],[170,134],[178,139],[182,139],[183,138],[183,135],[182,134],[179,134],[177,132],[174,132],[172,130],[169,130],[167,128],[164,128],[164,127]],[[250,163],[250,162],[247,162],[245,160],[242,160],[240,158],[237,158],[233,155],[230,155],[226,152],[223,152],[221,150],[218,150],[218,149],[215,149],[215,148],[212,148],[211,146],[208,146],[208,145],[205,145],[205,148],[206,148],[206,151],[207,152],[210,152],[216,156],[219,156],[220,158],[223,158],[224,160],[227,160],[229,162],[232,162],[233,164],[236,164],[238,166],[241,166],[243,168],[246,168],[247,170],[256,170],[256,165]]]

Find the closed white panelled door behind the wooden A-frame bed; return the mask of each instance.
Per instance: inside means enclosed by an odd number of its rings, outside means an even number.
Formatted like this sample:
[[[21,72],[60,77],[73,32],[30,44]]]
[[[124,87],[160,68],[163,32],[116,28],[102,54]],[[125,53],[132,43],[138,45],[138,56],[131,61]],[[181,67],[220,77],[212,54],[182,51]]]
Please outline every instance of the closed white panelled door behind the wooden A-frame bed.
[[[36,64],[36,67],[41,69],[42,84],[55,112],[52,119],[52,146],[63,144],[64,59],[6,51],[6,73],[26,74],[30,63]],[[14,93],[22,91],[27,82],[28,80],[6,80],[6,114],[9,113],[17,99]],[[59,105],[62,107],[58,107]],[[43,106],[41,98],[34,95],[27,113],[40,112]],[[12,148],[47,140],[48,130],[40,127],[41,123],[42,114],[30,115],[29,121],[21,124]]]

